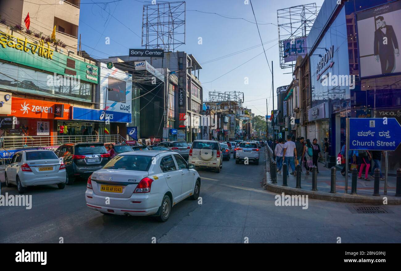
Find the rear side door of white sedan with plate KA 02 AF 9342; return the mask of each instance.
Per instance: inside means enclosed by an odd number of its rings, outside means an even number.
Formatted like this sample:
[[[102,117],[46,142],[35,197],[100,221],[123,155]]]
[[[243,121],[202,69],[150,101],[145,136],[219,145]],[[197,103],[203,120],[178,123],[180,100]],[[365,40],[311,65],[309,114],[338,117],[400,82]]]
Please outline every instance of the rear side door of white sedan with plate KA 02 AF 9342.
[[[182,177],[181,172],[177,170],[176,163],[172,155],[164,156],[160,161],[160,169],[166,178],[168,187],[173,192],[173,204],[181,198],[182,191]]]

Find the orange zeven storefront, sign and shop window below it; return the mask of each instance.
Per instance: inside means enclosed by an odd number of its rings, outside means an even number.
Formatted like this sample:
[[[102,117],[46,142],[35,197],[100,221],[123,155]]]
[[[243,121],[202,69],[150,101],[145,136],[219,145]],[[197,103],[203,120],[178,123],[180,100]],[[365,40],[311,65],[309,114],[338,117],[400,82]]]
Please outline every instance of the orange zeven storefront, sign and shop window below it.
[[[12,97],[10,116],[17,117],[14,130],[9,136],[53,136],[57,135],[57,120],[68,120],[70,104]],[[57,122],[56,122],[57,123]]]

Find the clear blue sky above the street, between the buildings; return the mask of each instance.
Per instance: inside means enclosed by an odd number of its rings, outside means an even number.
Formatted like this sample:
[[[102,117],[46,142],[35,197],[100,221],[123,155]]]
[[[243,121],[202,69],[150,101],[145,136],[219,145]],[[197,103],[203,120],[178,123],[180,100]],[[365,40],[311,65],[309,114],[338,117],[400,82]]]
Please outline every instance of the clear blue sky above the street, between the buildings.
[[[111,1],[113,0],[83,0],[82,3]],[[267,50],[266,55],[270,65],[273,60],[274,88],[290,84],[292,80],[291,74],[283,74],[292,72],[292,70],[282,70],[279,67],[277,9],[310,2],[316,2],[317,6],[321,6],[323,0],[252,1],[255,16],[260,23],[261,38],[263,42],[272,41],[264,46],[265,49],[271,47]],[[81,34],[82,50],[87,51],[94,58],[106,58],[127,55],[129,48],[142,48],[140,37],[144,4],[150,4],[150,1],[122,0],[108,4],[81,4],[79,34]],[[193,54],[201,64],[261,44],[256,24],[241,19],[227,19],[216,14],[190,11],[215,12],[254,22],[251,5],[244,4],[244,0],[187,0],[186,10],[186,44],[176,50]],[[113,16],[110,16],[109,13]],[[110,38],[110,44],[105,44],[106,37]],[[202,44],[198,44],[199,37],[202,37]],[[203,83],[204,100],[209,96],[209,91],[237,90],[244,92],[244,105],[251,108],[253,113],[256,115],[266,114],[266,98],[270,112],[273,108],[271,73],[262,52],[262,47],[258,46],[222,60],[203,64],[199,79]],[[258,54],[259,56],[257,56]],[[251,58],[253,59],[250,60]],[[250,61],[247,62],[248,60]],[[247,63],[243,64],[244,62]],[[243,65],[229,72],[240,64]],[[229,73],[222,76],[227,72]],[[219,76],[222,77],[216,79]],[[248,78],[249,84],[244,84],[245,77]],[[276,101],[275,107],[277,107]]]

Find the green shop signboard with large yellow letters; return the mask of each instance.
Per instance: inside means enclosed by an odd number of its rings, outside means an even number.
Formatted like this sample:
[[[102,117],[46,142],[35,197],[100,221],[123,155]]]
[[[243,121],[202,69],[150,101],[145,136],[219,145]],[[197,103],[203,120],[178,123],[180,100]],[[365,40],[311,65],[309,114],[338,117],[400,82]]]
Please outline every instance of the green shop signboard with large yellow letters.
[[[36,43],[0,31],[0,59],[51,73],[79,76],[82,81],[98,84],[99,67],[96,65],[54,51],[43,40]]]

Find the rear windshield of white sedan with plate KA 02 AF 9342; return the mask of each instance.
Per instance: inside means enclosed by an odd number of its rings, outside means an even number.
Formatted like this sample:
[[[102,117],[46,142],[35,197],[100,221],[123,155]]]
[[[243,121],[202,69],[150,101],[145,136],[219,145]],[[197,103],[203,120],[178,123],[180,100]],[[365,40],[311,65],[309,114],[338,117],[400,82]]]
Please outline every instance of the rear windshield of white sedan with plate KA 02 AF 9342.
[[[116,155],[103,168],[148,171],[152,156],[147,155]]]

